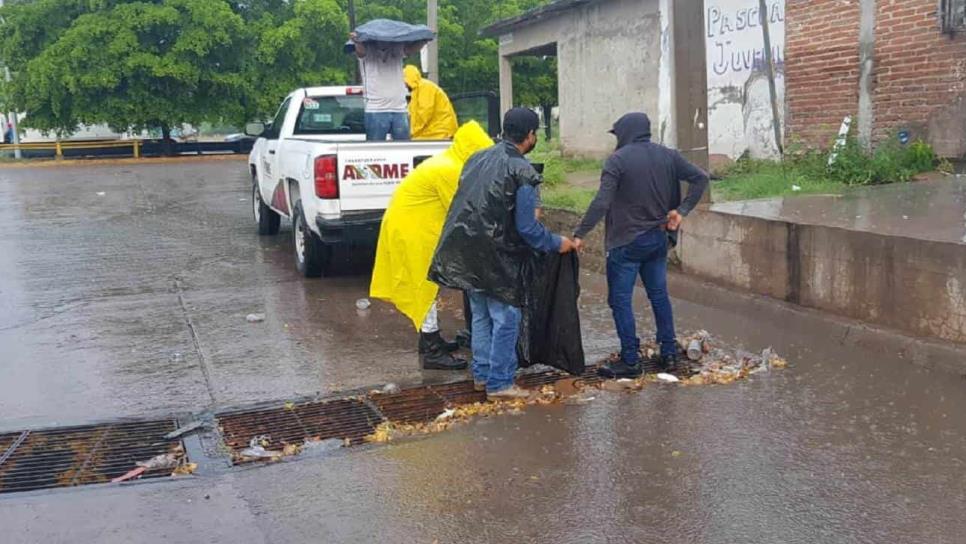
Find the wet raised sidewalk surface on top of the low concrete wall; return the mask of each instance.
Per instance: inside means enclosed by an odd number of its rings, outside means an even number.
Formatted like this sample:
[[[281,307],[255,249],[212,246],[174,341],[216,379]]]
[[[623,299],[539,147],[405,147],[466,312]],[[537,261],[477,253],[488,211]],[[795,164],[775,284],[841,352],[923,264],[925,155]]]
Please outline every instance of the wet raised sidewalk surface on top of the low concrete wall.
[[[966,178],[715,204],[714,211],[966,244]]]

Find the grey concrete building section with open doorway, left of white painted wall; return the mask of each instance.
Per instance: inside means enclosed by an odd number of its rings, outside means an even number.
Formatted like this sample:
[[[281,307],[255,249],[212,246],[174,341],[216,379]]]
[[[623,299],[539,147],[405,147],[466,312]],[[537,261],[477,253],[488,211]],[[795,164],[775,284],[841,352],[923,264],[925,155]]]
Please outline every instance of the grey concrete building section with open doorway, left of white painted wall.
[[[669,87],[670,72],[669,45],[662,48],[661,42],[668,24],[662,3],[562,0],[489,27],[485,32],[500,41],[503,109],[513,105],[511,59],[556,56],[560,139],[568,152],[612,150],[613,136],[607,131],[627,111],[648,112],[655,136],[666,138],[669,103],[664,97],[662,104],[661,88]]]

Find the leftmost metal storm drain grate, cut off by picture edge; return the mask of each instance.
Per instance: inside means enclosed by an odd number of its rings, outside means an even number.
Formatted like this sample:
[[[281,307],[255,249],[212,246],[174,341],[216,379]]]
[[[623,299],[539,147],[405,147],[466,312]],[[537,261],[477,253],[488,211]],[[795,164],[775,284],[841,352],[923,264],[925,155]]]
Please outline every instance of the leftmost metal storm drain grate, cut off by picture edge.
[[[0,435],[0,493],[109,482],[164,454],[184,457],[179,440],[164,435],[174,420],[65,427]],[[147,470],[142,478],[168,476]]]

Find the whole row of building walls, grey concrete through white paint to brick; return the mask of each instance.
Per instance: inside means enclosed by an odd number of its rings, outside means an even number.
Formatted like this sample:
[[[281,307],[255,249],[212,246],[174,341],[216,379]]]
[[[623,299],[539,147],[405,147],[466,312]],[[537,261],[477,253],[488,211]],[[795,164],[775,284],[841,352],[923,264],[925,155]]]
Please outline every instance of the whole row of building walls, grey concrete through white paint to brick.
[[[702,13],[676,16],[695,4]],[[678,102],[697,100],[691,96],[697,80],[683,83],[690,74],[681,56],[703,48],[706,110],[698,117],[707,117],[708,153],[777,157],[767,23],[782,143],[827,146],[851,116],[863,142],[922,138],[941,156],[966,157],[966,0],[768,0],[765,6],[763,12],[760,0],[557,0],[486,32],[500,38],[504,107],[513,101],[513,57],[558,57],[560,136],[571,153],[608,151],[607,128],[631,110],[651,114],[655,139],[702,147],[678,141],[674,119]],[[681,39],[695,30],[702,43]]]

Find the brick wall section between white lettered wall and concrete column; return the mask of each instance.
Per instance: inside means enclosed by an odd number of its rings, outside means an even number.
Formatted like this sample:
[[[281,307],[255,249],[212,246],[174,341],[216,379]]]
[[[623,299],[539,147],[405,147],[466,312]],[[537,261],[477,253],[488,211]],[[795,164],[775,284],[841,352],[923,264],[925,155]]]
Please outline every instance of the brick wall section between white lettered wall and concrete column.
[[[786,0],[786,140],[826,146],[859,106],[858,0]]]

